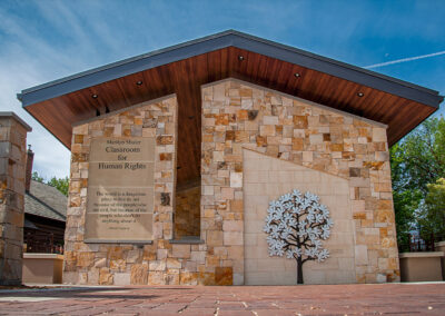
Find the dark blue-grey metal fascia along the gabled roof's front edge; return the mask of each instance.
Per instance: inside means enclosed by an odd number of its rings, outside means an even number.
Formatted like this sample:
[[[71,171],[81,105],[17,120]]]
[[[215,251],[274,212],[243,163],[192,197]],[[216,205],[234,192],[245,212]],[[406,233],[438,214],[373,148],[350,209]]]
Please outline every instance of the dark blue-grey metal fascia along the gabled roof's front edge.
[[[27,107],[109,80],[230,46],[300,65],[431,107],[437,108],[444,99],[443,96],[438,95],[438,91],[428,88],[235,30],[227,30],[155,50],[24,89],[18,95],[18,98],[22,106]]]

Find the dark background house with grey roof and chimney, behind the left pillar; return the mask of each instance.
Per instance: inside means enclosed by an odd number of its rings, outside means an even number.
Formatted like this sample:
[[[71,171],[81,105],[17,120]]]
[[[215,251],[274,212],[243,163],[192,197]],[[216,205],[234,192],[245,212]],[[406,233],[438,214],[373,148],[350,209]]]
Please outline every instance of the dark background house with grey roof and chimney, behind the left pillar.
[[[67,197],[57,188],[32,180],[33,152],[28,149],[23,250],[27,253],[63,253]]]

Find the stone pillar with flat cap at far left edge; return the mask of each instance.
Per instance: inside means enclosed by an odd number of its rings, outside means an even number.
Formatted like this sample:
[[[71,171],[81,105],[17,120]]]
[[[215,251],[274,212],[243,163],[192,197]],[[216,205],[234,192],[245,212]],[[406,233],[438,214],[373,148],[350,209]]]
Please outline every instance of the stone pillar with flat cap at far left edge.
[[[0,112],[0,285],[20,285],[27,132],[13,112]]]

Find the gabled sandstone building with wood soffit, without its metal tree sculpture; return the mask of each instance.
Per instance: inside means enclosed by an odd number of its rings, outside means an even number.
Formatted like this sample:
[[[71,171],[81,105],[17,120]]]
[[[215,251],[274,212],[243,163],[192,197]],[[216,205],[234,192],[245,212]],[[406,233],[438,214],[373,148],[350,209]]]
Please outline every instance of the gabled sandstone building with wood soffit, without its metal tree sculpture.
[[[388,146],[443,97],[226,31],[19,99],[72,152],[66,283],[269,285],[296,283],[263,231],[294,189],[335,223],[306,283],[399,280]]]

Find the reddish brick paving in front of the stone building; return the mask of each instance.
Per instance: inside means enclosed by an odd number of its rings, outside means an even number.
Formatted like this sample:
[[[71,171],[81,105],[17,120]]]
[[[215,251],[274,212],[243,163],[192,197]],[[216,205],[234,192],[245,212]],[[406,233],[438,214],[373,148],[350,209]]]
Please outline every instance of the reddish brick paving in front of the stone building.
[[[1,315],[445,315],[445,283],[0,292]]]

